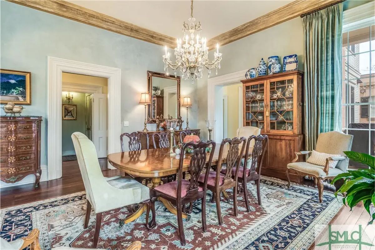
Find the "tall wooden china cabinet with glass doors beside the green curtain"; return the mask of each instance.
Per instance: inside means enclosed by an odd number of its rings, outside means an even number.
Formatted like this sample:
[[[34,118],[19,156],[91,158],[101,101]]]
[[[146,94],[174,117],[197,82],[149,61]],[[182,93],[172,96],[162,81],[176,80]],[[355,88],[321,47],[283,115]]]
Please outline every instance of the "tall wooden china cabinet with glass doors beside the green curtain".
[[[262,174],[287,180],[287,164],[303,150],[303,72],[291,71],[243,80],[243,125],[269,136]],[[300,182],[302,177],[291,175]]]

